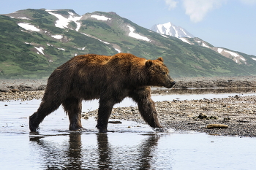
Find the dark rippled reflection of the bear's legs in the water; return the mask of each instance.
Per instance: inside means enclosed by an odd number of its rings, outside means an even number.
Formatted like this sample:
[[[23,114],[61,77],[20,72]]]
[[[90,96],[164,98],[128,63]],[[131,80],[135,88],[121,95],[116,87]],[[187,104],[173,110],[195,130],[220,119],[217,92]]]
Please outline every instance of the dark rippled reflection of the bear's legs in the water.
[[[94,141],[90,144],[87,140]],[[83,139],[86,136],[86,139]],[[138,134],[135,134],[135,137]],[[123,137],[122,135],[119,137]],[[140,136],[141,137],[141,136]],[[139,139],[141,139],[139,137]],[[54,140],[54,139],[55,140]],[[31,147],[39,151],[39,163],[47,169],[151,169],[152,160],[161,135],[143,135],[138,144],[127,147],[113,142],[106,133],[83,134],[71,132],[68,136],[34,136]],[[111,140],[112,139],[112,140]],[[122,141],[122,140],[121,140]],[[169,163],[169,162],[168,162]],[[128,167],[128,168],[127,168]],[[42,168],[43,169],[43,168]]]

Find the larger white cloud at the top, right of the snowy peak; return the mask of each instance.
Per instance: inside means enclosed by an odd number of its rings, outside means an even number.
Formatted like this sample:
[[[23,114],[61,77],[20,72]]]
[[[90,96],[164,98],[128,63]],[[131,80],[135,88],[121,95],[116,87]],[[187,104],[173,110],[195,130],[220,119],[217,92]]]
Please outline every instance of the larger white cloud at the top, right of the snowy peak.
[[[200,22],[212,9],[221,7],[227,0],[183,0],[186,14],[192,22]]]

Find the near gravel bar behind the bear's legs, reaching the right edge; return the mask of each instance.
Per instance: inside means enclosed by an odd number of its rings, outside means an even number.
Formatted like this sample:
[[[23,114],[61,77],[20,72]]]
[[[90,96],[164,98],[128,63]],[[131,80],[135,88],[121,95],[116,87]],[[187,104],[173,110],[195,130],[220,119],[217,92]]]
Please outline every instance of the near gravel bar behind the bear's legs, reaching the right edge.
[[[156,108],[163,128],[173,128],[181,133],[197,131],[212,135],[256,137],[256,96],[159,101]],[[83,112],[83,117],[97,119],[97,110]],[[110,119],[145,123],[138,107],[113,108]],[[208,125],[217,127],[209,128]]]

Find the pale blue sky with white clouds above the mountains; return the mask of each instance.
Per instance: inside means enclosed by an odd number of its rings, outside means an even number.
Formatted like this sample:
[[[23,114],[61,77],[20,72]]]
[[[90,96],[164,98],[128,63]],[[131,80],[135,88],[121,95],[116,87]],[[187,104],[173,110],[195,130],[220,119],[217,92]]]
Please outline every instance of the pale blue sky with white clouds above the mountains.
[[[256,55],[256,0],[0,0],[0,14],[20,9],[116,12],[150,29],[171,22],[215,47]]]

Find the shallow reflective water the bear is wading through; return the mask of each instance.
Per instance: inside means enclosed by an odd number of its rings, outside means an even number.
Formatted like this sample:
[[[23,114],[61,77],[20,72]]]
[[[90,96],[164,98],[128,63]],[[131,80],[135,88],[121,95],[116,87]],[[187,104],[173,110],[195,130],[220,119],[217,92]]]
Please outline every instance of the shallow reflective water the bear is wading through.
[[[227,94],[233,95],[237,94]],[[162,100],[177,98],[163,97]],[[132,105],[129,101],[116,107]],[[82,120],[86,130],[70,132],[68,117],[61,108],[45,118],[39,134],[29,134],[28,117],[37,110],[39,102],[0,102],[0,169],[254,169],[256,166],[256,138],[179,134],[172,129],[159,133],[148,125],[124,120],[122,124],[108,125],[108,130],[114,132],[99,134],[94,118]],[[93,102],[84,103],[83,112]]]

